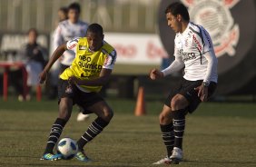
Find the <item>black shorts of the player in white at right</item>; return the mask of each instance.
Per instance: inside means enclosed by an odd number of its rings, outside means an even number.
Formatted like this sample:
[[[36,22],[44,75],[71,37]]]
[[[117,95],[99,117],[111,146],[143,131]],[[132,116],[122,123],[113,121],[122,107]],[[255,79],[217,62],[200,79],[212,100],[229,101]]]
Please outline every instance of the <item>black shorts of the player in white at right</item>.
[[[201,84],[202,84],[202,80],[188,81],[183,78],[182,82],[177,84],[177,87],[171,91],[171,93],[165,100],[164,104],[171,108],[172,98],[176,94],[182,94],[190,103],[189,106],[187,107],[188,112],[189,113],[194,112],[195,109],[198,107],[198,105],[202,102],[200,97],[198,97],[198,91],[195,91],[194,88],[200,86]],[[213,82],[210,83],[208,87],[208,98],[211,97],[212,93],[214,93],[216,86],[217,86],[217,83],[213,83]]]

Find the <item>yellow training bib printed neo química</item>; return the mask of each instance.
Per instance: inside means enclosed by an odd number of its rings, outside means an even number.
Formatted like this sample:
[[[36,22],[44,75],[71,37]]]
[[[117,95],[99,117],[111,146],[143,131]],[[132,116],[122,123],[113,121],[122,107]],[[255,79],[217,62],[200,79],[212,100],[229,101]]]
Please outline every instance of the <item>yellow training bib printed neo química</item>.
[[[75,76],[81,80],[92,80],[99,77],[103,64],[113,50],[110,44],[104,43],[99,51],[90,51],[87,38],[80,38],[76,45],[74,61],[69,68],[64,70],[60,78],[68,80],[69,77]],[[82,88],[85,92],[99,92],[102,89],[102,86],[79,85],[78,87]]]

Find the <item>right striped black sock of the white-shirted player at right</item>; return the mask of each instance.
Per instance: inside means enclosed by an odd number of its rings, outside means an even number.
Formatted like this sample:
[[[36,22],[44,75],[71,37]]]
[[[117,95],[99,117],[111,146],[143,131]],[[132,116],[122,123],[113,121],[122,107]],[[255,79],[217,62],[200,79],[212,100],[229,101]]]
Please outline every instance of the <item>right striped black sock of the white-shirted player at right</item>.
[[[182,138],[185,130],[185,109],[172,111],[172,123],[174,129],[174,147],[182,149]]]

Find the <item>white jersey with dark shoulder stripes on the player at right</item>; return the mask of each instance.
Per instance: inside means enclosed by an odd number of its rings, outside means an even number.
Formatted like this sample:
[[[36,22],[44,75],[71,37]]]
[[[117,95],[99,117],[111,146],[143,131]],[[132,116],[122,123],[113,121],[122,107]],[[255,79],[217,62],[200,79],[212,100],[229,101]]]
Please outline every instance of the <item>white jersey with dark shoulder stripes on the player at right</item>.
[[[191,22],[174,40],[174,56],[185,65],[184,78],[189,81],[203,80],[207,74],[206,52],[214,52],[210,34],[201,26]],[[213,54],[215,55],[215,54]],[[217,83],[217,70],[212,71],[210,81]]]

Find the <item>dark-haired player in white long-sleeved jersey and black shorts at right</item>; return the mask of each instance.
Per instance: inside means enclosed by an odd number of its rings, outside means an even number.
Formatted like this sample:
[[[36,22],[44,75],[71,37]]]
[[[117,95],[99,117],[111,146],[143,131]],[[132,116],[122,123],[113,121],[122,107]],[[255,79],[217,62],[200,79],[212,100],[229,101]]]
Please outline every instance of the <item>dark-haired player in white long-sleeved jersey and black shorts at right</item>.
[[[153,164],[182,161],[185,115],[192,113],[201,102],[207,101],[214,92],[218,79],[218,60],[208,32],[201,25],[190,22],[188,10],[181,3],[169,5],[165,15],[168,26],[176,33],[175,60],[162,71],[153,69],[150,78],[159,79],[182,68],[184,75],[182,82],[172,89],[159,116],[167,156]]]

